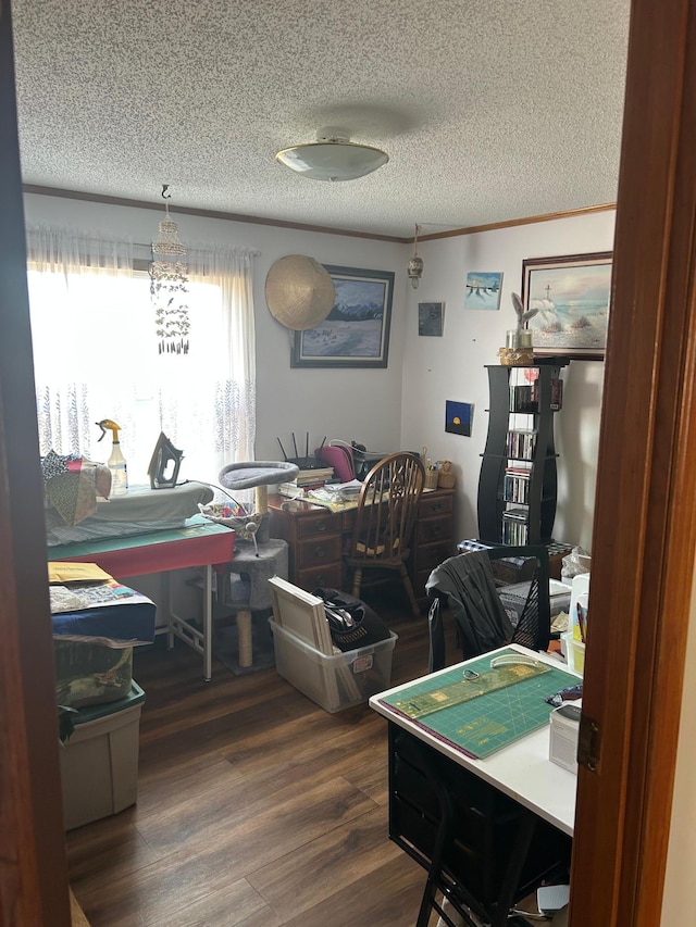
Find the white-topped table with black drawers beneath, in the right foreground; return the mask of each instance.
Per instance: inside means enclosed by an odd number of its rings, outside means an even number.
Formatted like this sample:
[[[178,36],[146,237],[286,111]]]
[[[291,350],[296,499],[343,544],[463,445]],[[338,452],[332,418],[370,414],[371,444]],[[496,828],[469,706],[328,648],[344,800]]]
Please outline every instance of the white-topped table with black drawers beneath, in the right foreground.
[[[546,654],[512,649],[562,666]],[[370,706],[389,723],[389,837],[432,876],[445,827],[440,793],[452,797],[444,866],[480,901],[489,923],[504,925],[507,911],[533,891],[549,868],[559,860],[570,862],[577,777],[548,759],[548,725],[486,760],[473,759],[428,731],[425,719],[415,723],[384,702],[412,685],[370,699]],[[422,910],[419,925],[427,923],[423,918]]]

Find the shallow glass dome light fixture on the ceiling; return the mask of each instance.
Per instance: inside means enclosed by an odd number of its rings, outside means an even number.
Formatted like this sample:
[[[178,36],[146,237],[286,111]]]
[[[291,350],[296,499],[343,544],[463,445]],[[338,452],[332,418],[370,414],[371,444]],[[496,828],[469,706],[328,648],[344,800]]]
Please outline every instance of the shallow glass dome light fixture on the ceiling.
[[[275,159],[302,177],[337,183],[372,174],[387,163],[389,155],[371,145],[359,145],[340,135],[322,134],[316,141],[284,148]]]

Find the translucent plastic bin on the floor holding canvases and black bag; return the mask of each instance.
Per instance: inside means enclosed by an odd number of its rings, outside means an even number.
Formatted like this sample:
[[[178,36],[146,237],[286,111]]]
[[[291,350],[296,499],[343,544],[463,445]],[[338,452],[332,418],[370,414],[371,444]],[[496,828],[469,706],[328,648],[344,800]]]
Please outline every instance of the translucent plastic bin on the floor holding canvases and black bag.
[[[275,668],[296,689],[327,712],[339,712],[366,702],[388,689],[391,656],[398,640],[389,638],[370,647],[326,655],[269,618],[273,631]]]

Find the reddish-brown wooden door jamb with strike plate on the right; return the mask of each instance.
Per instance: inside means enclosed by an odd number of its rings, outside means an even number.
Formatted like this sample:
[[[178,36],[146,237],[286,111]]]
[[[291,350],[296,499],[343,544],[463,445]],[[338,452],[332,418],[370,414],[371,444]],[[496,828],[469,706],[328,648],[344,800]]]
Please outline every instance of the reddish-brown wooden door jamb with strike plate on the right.
[[[593,530],[573,927],[660,923],[696,549],[696,2],[634,0]]]

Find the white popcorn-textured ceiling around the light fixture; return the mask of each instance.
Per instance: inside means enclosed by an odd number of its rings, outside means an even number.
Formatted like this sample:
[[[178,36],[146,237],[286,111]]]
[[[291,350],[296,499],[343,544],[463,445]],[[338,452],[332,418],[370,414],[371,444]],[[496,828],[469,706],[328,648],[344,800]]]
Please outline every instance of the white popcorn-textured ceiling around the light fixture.
[[[13,0],[23,179],[380,235],[613,202],[630,0]],[[325,127],[359,180],[275,152]]]

